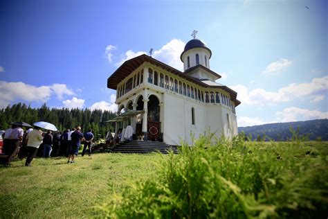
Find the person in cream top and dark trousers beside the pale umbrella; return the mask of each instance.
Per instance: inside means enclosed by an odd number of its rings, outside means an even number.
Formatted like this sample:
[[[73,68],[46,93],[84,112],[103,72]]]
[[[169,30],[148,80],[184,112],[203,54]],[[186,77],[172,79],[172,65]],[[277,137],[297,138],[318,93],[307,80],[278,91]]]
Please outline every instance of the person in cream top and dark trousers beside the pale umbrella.
[[[35,129],[28,133],[26,137],[27,147],[26,147],[26,161],[25,166],[30,166],[33,158],[37,156],[37,150],[39,149],[40,144],[42,143],[42,131],[41,128],[35,127]]]

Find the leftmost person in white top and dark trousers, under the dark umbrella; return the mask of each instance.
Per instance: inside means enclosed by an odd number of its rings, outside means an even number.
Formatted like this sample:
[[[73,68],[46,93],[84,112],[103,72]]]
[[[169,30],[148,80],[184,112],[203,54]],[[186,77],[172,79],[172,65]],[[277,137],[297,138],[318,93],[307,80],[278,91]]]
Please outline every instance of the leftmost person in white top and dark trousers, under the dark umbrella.
[[[12,125],[4,134],[3,152],[8,155],[5,166],[10,166],[12,159],[17,154],[21,141],[23,141],[24,130],[21,126]]]

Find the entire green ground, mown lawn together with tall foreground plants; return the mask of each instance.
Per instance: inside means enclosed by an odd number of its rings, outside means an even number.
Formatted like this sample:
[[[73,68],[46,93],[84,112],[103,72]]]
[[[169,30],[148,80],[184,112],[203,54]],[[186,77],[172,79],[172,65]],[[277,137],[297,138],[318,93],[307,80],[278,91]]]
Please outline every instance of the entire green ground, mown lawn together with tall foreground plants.
[[[95,154],[79,156],[76,164],[37,158],[32,167],[14,161],[0,168],[0,218],[318,218],[327,213],[327,142],[210,142],[201,137],[179,155]]]

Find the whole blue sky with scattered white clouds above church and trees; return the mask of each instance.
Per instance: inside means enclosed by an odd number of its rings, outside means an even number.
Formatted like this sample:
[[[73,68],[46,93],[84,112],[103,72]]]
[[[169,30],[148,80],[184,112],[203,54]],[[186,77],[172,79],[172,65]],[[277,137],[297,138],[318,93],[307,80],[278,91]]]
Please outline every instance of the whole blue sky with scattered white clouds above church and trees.
[[[0,109],[117,110],[107,78],[148,53],[183,71],[197,38],[238,126],[328,118],[328,1],[0,1]]]

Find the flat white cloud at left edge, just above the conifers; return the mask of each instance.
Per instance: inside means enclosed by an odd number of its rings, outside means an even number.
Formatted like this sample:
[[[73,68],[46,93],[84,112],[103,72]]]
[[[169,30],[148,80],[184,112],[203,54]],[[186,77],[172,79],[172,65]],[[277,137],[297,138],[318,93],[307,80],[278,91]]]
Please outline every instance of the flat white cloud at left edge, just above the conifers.
[[[51,87],[26,85],[24,82],[0,81],[0,107],[6,107],[12,100],[46,102],[51,97]]]

